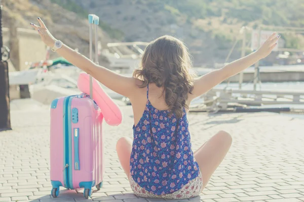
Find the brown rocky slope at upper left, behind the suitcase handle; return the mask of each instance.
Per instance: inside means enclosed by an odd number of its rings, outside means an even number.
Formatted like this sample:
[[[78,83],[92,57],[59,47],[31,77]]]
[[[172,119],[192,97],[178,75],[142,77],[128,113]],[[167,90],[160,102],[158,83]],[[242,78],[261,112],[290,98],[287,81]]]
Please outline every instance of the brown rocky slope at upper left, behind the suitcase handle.
[[[87,17],[79,15],[77,11],[68,11],[50,0],[10,0],[3,2],[3,27],[28,28],[29,22],[37,23],[41,17],[51,33],[72,48],[79,48],[80,52],[89,56],[89,24]],[[77,6],[77,5],[76,5]],[[102,44],[117,41],[99,27],[99,39]],[[51,57],[58,57],[51,53]],[[100,59],[106,64],[106,60]]]

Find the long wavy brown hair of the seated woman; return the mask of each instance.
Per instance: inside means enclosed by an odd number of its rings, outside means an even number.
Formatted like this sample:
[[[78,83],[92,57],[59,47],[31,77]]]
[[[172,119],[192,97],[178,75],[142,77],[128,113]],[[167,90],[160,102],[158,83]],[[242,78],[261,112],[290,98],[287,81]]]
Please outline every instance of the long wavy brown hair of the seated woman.
[[[143,81],[139,87],[155,83],[163,87],[166,104],[177,118],[182,117],[186,100],[192,93],[195,74],[187,47],[173,36],[162,36],[151,41],[145,48],[141,64],[133,77]]]

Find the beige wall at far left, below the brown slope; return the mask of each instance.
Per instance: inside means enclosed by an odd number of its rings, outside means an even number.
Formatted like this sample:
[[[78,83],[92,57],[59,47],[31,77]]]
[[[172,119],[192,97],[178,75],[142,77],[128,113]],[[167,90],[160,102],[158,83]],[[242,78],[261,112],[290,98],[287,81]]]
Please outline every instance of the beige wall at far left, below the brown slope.
[[[8,28],[2,28],[3,32],[3,44],[11,48],[10,45],[10,30]],[[40,39],[39,34],[31,29],[17,28],[17,38],[19,44],[19,64],[20,67],[16,69],[25,70],[29,67],[25,63],[38,62],[45,60],[46,45]],[[14,61],[12,61],[14,62]],[[10,71],[14,71],[14,68],[10,67]]]

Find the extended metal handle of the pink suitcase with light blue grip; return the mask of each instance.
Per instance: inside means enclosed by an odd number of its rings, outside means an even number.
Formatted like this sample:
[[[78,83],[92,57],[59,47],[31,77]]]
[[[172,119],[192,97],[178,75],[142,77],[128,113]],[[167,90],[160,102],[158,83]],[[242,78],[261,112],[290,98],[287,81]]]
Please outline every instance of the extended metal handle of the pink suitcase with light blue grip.
[[[99,17],[94,14],[89,14],[88,16],[90,23],[90,60],[93,61],[93,24],[95,25],[95,64],[98,65],[98,24]],[[93,99],[93,78],[90,75],[90,98]]]

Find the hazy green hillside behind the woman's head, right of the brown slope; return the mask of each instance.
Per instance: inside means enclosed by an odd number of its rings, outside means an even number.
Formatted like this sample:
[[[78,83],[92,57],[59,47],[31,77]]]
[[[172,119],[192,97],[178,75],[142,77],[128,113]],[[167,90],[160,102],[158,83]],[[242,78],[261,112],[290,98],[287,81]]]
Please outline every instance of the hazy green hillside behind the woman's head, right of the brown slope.
[[[303,0],[69,1],[121,30],[125,41],[150,41],[164,34],[177,36],[185,41],[197,65],[223,62],[235,38],[242,37],[239,31],[244,25],[304,25]],[[298,36],[283,38],[287,47],[303,45],[297,41]],[[240,57],[240,47],[238,43],[232,58]]]

